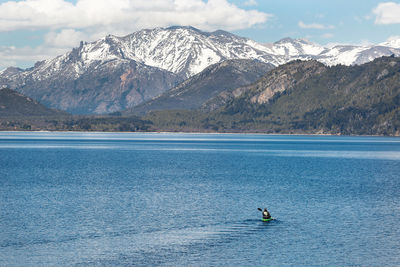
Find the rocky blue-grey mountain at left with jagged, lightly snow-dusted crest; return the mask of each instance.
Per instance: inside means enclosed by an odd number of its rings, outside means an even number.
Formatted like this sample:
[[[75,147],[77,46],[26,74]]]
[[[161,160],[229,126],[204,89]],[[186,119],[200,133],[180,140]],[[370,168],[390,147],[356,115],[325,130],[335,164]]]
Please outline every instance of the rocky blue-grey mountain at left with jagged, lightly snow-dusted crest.
[[[132,107],[181,81],[177,75],[133,60],[85,63],[81,46],[30,70],[7,69],[0,82],[51,108],[75,114],[109,113]],[[111,49],[111,47],[109,47]]]

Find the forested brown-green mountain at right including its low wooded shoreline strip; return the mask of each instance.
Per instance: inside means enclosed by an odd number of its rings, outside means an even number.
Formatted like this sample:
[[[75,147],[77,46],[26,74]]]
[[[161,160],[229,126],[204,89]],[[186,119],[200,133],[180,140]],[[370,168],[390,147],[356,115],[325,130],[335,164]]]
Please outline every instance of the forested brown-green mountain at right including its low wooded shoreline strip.
[[[328,67],[294,61],[232,92],[219,109],[151,112],[157,130],[400,135],[400,58]]]

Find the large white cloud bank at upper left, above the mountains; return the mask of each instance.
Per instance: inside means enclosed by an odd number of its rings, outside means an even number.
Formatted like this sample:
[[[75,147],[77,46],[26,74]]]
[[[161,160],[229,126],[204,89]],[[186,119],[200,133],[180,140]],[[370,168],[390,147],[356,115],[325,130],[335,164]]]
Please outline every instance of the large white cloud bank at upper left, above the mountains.
[[[255,1],[249,1],[254,3]],[[201,30],[239,30],[267,22],[272,15],[245,10],[228,0],[23,0],[0,2],[0,32],[45,30],[37,47],[0,47],[0,70],[28,67],[53,58],[82,41],[107,34],[122,36],[143,28],[191,25]]]

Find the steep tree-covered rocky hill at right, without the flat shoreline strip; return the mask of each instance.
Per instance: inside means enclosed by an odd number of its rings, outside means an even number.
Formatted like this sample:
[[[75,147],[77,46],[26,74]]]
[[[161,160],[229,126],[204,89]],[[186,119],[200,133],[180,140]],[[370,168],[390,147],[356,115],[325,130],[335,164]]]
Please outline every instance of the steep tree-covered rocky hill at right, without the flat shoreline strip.
[[[302,71],[295,71],[299,69]],[[400,59],[395,57],[350,67],[297,61],[268,75],[271,78],[266,84],[272,85],[276,81],[273,74],[285,73],[289,82],[283,89],[273,90],[269,98],[264,98],[271,87],[255,84],[221,112],[247,113],[245,117],[275,131],[399,135],[399,70]]]

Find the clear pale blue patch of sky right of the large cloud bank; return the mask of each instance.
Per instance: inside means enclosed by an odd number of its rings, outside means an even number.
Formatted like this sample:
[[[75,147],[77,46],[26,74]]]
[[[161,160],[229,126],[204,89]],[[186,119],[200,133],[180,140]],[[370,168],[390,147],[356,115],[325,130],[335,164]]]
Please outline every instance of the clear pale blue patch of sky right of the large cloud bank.
[[[232,1],[240,5],[243,1]],[[373,10],[384,1],[374,0],[264,0],[247,6],[270,13],[273,17],[264,24],[234,31],[260,42],[274,42],[283,37],[306,38],[320,44],[379,43],[390,36],[400,35],[400,24],[376,24]],[[400,5],[400,1],[397,2]],[[398,13],[400,17],[400,10]],[[319,24],[322,29],[301,28]]]

